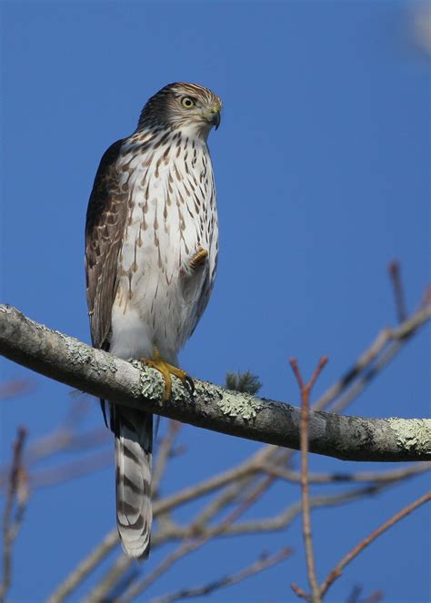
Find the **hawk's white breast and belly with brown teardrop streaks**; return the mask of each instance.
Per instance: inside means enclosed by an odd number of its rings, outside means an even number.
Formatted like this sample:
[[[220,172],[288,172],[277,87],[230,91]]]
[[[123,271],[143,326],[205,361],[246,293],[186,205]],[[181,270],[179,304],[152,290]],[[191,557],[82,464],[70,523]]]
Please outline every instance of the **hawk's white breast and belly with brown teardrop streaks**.
[[[216,199],[206,145],[198,141],[195,149],[193,154],[185,147],[156,169],[163,145],[150,166],[133,149],[120,160],[129,165],[122,182],[131,191],[112,311],[110,350],[120,358],[151,358],[157,348],[165,361],[177,364],[205,309],[216,270]],[[208,257],[194,271],[189,262],[199,248]]]

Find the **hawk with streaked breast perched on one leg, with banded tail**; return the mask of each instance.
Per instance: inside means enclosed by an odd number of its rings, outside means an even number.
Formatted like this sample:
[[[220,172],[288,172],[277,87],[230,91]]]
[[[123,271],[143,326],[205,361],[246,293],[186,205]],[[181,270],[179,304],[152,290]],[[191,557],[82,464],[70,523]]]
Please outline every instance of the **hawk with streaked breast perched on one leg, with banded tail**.
[[[220,98],[168,84],[145,104],[134,133],[102,157],[88,203],[85,272],[92,341],[185,381],[177,355],[213,288],[218,226],[206,140]],[[102,400],[104,407],[104,401]],[[125,553],[149,553],[153,416],[109,405],[115,433],[116,520]]]

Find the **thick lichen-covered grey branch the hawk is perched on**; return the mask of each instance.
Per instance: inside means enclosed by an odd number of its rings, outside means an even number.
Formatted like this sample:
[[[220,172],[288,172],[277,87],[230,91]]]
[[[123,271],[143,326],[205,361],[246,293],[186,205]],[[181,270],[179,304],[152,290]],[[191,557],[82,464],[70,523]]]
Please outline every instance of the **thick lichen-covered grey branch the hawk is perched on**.
[[[427,307],[404,325],[416,331],[431,315]],[[401,326],[403,326],[401,325]],[[401,329],[401,326],[399,329]],[[122,361],[81,341],[51,331],[11,306],[0,306],[0,353],[33,371],[131,408],[220,431],[299,449],[300,410],[195,380],[190,394],[175,380],[172,399],[161,405],[158,371]],[[342,460],[431,460],[431,421],[363,419],[310,412],[309,450]]]

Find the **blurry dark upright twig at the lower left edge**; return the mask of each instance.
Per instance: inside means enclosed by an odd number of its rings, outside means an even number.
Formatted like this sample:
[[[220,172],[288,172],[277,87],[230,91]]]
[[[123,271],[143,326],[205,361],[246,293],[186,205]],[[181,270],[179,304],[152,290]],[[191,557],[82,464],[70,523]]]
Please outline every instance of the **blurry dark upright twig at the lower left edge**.
[[[23,449],[27,432],[24,427],[18,429],[14,443],[14,453],[9,475],[9,489],[5,502],[3,516],[3,582],[0,586],[0,601],[3,603],[6,593],[10,588],[12,578],[12,546],[16,534],[21,527],[25,507],[28,501],[25,470],[22,465]],[[17,508],[15,519],[12,519],[15,499]]]

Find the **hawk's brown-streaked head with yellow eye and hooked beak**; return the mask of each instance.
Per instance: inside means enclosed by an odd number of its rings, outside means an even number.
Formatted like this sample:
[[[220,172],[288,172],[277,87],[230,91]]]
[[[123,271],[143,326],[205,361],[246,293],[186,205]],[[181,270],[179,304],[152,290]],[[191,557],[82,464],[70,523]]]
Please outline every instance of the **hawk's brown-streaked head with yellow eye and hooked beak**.
[[[222,102],[199,84],[167,84],[145,104],[138,129],[167,127],[206,140],[213,126],[218,128]]]

